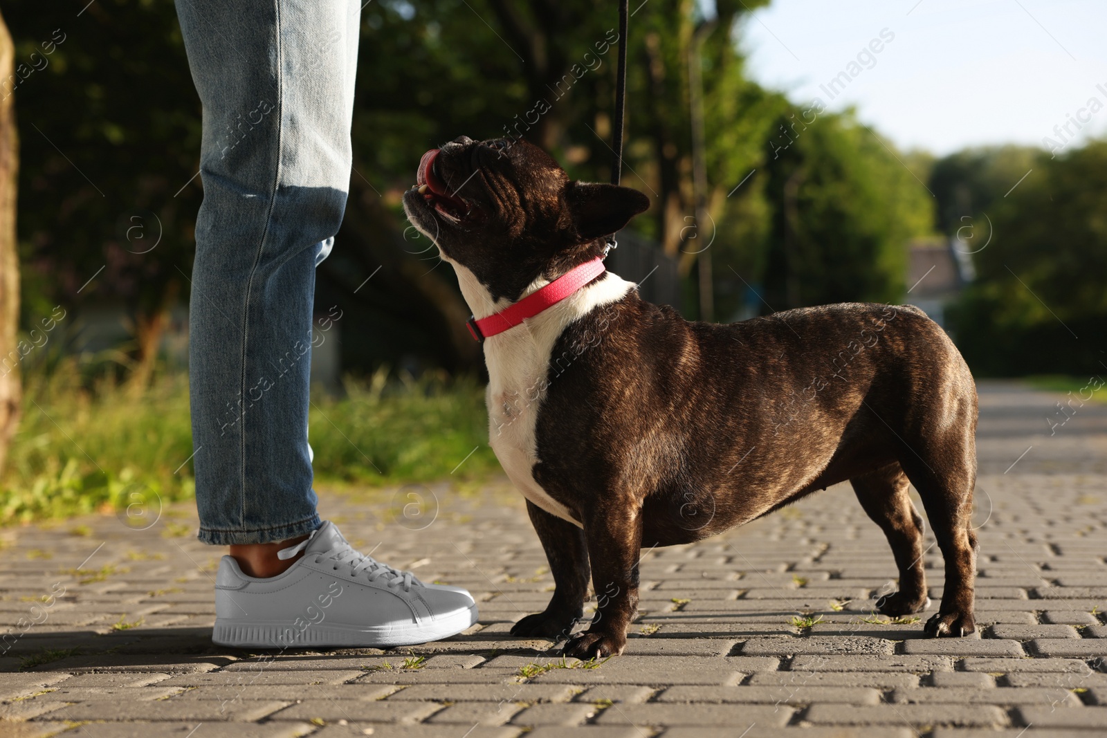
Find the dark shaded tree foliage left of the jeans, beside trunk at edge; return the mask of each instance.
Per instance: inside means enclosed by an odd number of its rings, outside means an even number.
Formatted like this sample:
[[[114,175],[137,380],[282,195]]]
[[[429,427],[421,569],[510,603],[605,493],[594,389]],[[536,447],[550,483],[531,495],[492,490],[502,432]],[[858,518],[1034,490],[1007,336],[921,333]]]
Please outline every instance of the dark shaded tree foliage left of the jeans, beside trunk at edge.
[[[118,302],[134,380],[187,293],[199,111],[172,2],[10,3],[20,115],[24,325]],[[79,294],[80,293],[80,294]]]

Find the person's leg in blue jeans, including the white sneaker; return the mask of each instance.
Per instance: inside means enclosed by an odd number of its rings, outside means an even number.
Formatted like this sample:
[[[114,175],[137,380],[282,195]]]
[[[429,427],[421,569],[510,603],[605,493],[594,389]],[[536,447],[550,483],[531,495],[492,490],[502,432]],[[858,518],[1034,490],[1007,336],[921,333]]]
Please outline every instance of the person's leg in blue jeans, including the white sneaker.
[[[308,446],[317,260],[350,176],[358,0],[177,0],[204,103],[189,385],[199,538],[230,544],[211,640],[397,646],[476,622],[320,521]]]

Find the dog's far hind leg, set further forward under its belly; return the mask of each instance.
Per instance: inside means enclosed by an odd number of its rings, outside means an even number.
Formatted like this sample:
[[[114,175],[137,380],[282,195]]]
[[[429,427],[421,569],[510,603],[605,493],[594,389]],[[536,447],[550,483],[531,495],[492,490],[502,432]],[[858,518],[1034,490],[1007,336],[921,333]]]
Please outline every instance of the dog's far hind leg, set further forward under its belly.
[[[898,462],[849,480],[857,499],[888,538],[899,569],[899,591],[877,601],[886,615],[910,615],[930,604],[922,570],[922,516],[908,497],[908,479]]]

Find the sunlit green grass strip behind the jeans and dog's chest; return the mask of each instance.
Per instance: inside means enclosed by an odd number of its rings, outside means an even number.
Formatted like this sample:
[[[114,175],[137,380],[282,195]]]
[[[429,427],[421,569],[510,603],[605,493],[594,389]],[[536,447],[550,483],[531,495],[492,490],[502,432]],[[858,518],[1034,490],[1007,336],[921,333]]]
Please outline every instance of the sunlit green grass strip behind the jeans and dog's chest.
[[[163,371],[136,389],[112,377],[89,380],[76,360],[68,360],[23,382],[23,416],[0,476],[0,526],[111,514],[135,509],[136,501],[153,512],[194,497],[185,374]],[[416,381],[382,371],[346,380],[344,391],[341,397],[312,391],[309,437],[318,485],[445,478],[465,485],[499,470],[488,447],[484,387],[475,380]],[[188,533],[179,523],[166,528],[168,537]]]

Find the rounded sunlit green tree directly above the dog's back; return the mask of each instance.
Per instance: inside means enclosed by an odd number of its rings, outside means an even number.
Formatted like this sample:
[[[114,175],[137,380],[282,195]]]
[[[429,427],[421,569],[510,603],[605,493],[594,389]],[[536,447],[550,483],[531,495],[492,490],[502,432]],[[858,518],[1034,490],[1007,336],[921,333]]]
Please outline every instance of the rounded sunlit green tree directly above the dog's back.
[[[776,309],[903,295],[906,246],[933,198],[852,111],[787,110],[766,157],[765,300]]]

